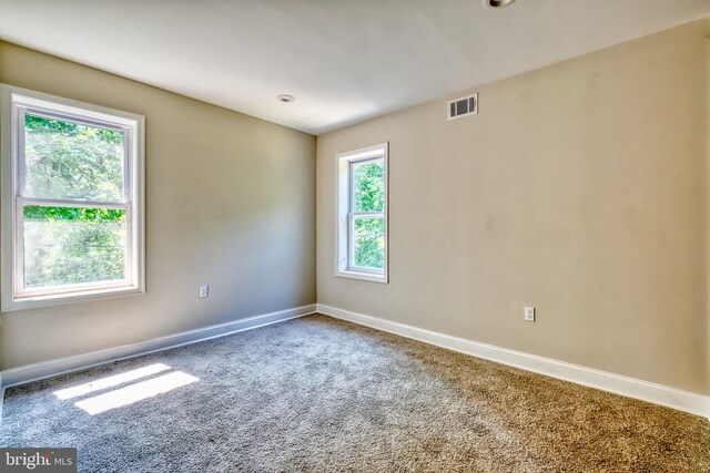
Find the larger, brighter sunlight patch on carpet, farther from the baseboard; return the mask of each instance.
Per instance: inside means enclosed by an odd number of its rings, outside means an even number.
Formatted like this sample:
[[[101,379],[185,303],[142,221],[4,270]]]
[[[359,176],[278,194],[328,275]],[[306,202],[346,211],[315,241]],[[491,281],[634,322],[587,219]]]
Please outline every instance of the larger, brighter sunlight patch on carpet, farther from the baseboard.
[[[182,371],[175,371],[75,402],[74,405],[83,409],[91,415],[95,415],[112,409],[142,401],[143,399],[153,398],[158,394],[162,394],[197,381],[200,381],[199,378]]]

